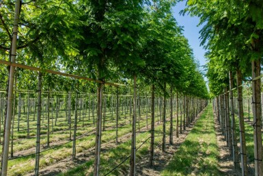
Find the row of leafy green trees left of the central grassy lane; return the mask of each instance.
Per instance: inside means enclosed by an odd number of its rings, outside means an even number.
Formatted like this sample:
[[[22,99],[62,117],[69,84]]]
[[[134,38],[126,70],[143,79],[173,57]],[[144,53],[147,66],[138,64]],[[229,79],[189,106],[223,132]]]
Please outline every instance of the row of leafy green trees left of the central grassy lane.
[[[134,94],[130,175],[135,175],[137,80],[152,86],[153,98],[155,90],[168,97],[167,84],[171,88],[170,95],[176,90],[184,95],[208,97],[208,90],[193,58],[193,52],[182,35],[182,28],[172,16],[173,5],[175,1],[167,0],[17,0],[15,5],[13,1],[1,3],[0,55],[11,62],[42,68],[38,81],[33,81],[37,76],[29,74],[28,71],[17,72],[17,80],[20,81],[18,85],[21,88],[38,87],[39,102],[40,90],[43,87],[45,90],[77,89],[97,92],[94,175],[98,175],[100,166],[102,95],[105,81],[133,85],[133,90],[130,90]],[[10,16],[14,16],[14,23]],[[46,74],[45,69],[97,79],[97,90],[90,88],[91,84],[83,80]],[[8,81],[8,86],[5,86],[8,88],[8,105],[2,160],[2,175],[6,175],[15,68],[8,68],[9,77],[6,77],[3,66],[1,70],[1,85]],[[24,83],[19,77],[25,77],[27,81]],[[57,84],[58,82],[60,84]],[[40,111],[39,109],[38,127]],[[39,155],[36,157],[39,158]]]

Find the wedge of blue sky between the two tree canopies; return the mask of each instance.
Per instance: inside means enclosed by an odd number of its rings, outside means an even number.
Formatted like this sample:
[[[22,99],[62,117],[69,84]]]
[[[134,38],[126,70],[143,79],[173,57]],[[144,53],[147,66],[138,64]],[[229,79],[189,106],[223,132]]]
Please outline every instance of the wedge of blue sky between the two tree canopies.
[[[179,12],[184,9],[185,4],[186,1],[180,1],[176,4],[176,7],[173,8],[174,17],[178,25],[183,26],[184,36],[189,40],[189,45],[193,49],[195,59],[199,60],[200,65],[203,66],[206,64],[206,59],[204,58],[204,53],[206,53],[206,51],[203,47],[200,47],[199,31],[202,29],[202,26],[197,27],[199,23],[198,17],[191,17],[187,14],[182,16],[179,14]]]

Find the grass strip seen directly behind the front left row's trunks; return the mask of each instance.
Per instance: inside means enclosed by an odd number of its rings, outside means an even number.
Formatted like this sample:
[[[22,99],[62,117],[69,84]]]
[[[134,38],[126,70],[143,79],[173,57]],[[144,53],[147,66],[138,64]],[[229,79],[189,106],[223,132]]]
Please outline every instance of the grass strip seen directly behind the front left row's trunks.
[[[163,131],[162,123],[158,125],[155,129],[156,136],[160,135]],[[166,130],[166,134],[168,136],[169,129]],[[136,143],[137,147],[141,145],[147,138],[150,137],[150,131],[146,131],[140,134],[137,134],[136,136]],[[155,144],[162,142],[162,137],[156,137],[155,138]],[[122,144],[119,144],[115,148],[111,148],[107,151],[102,151],[101,158],[100,158],[100,175],[106,175],[111,171],[111,169],[115,168],[118,164],[120,164],[125,158],[127,158],[130,155],[130,145],[131,140],[127,140],[126,142],[123,142]],[[138,149],[136,153],[137,161],[141,158],[145,157],[146,155],[149,155],[149,149],[150,149],[150,140],[148,140],[146,143],[143,144],[143,146]],[[92,162],[92,163],[91,163]],[[80,166],[77,166],[76,168],[70,169],[66,173],[61,173],[59,176],[84,176],[84,175],[93,175],[92,172],[89,170],[93,168],[93,162],[94,160],[90,160],[86,162],[85,164],[81,164]],[[115,169],[110,175],[127,175],[129,171],[129,162],[130,158],[126,160],[120,167]],[[88,172],[89,171],[89,172]],[[92,170],[93,171],[93,170]]]

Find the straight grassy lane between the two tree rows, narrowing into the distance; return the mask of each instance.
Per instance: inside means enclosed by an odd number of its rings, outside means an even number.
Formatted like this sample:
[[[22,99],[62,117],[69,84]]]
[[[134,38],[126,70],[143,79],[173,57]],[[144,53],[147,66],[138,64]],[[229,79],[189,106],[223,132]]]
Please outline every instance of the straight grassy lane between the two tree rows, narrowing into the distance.
[[[161,175],[222,175],[217,136],[209,104]]]

